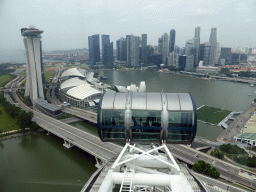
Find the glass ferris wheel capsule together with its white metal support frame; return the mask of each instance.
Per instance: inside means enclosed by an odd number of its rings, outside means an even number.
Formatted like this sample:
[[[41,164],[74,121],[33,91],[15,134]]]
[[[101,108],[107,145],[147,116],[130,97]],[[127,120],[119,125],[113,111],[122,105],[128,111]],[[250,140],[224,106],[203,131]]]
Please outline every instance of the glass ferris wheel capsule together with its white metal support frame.
[[[99,189],[91,191],[200,191],[167,145],[191,144],[196,130],[196,105],[188,93],[105,92],[98,109],[99,137],[125,146],[106,166]]]

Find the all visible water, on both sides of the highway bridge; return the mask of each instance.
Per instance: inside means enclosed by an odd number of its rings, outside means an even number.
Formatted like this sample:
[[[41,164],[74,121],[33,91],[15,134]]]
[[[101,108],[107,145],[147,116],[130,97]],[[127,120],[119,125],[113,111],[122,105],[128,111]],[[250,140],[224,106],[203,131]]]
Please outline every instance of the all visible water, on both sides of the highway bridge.
[[[195,77],[147,71],[100,70],[111,85],[139,85],[145,81],[148,92],[188,92],[197,106],[210,105],[241,111],[254,96],[249,84],[202,80]],[[97,135],[96,126],[72,124]],[[216,138],[223,129],[198,123],[197,135]],[[73,147],[63,147],[63,140],[45,132],[0,141],[0,192],[80,191],[96,170],[95,159]]]

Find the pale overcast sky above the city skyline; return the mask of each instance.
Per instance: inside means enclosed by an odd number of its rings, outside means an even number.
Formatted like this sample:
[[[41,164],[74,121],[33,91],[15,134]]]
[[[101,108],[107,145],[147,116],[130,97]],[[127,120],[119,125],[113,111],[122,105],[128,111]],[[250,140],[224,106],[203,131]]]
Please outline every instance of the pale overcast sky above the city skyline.
[[[222,46],[256,47],[255,0],[0,0],[0,48],[24,49],[20,28],[44,31],[43,50],[87,48],[88,36],[148,34],[157,45],[163,33],[176,30],[184,46],[201,27],[201,43],[212,27]]]

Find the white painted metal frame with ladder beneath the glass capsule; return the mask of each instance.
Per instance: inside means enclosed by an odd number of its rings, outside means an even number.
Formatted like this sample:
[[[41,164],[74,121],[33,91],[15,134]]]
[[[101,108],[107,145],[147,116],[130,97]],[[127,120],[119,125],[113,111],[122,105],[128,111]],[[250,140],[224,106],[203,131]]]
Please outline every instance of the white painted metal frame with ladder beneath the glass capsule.
[[[172,189],[175,192],[193,191],[184,174],[180,174],[181,170],[166,144],[161,146],[153,145],[154,149],[151,149],[149,145],[144,146],[126,143],[105,176],[99,192],[111,192],[116,184],[125,185],[125,190],[129,192],[133,192],[133,187],[137,187],[136,190],[139,191],[149,190],[152,187],[164,188],[169,191]],[[165,151],[165,153],[160,153],[159,150]],[[132,171],[129,175],[130,180],[128,182],[126,171],[131,167],[134,168],[134,172]],[[126,171],[123,170],[124,168],[126,168]],[[162,172],[158,169],[167,169],[167,172]],[[123,187],[120,188],[120,191],[122,190]]]

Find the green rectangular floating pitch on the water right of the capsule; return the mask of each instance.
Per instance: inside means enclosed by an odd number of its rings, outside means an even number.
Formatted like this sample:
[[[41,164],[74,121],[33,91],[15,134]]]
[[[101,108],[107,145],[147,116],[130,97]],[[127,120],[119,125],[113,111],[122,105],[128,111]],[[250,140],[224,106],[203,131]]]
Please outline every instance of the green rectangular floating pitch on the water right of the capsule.
[[[213,124],[220,123],[231,111],[210,106],[203,106],[197,111],[197,119]]]

